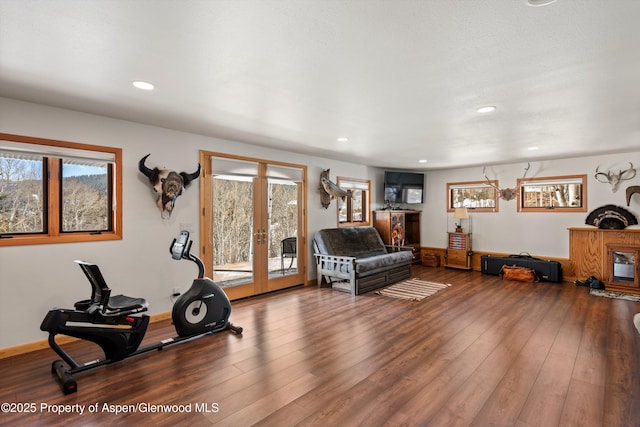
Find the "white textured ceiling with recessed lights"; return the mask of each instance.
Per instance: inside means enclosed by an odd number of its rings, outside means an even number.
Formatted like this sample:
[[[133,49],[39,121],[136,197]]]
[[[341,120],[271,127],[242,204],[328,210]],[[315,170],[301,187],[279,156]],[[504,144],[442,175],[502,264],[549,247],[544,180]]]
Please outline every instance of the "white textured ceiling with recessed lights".
[[[0,0],[0,96],[387,168],[626,152],[639,28],[637,0]]]

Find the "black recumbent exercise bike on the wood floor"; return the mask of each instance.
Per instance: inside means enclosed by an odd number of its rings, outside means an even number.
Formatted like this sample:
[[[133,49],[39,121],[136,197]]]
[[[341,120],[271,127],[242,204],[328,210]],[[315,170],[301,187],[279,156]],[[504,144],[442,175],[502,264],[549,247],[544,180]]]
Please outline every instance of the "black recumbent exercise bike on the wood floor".
[[[40,325],[41,330],[49,332],[49,346],[66,362],[65,365],[56,360],[51,364],[51,373],[57,375],[64,394],[78,390],[73,374],[227,329],[242,334],[241,327],[229,322],[229,298],[213,280],[204,277],[202,261],[191,254],[192,243],[189,232],[181,231],[169,248],[174,260],[186,259],[198,266],[198,277],[173,305],[171,318],[178,335],[145,347],[140,347],[140,343],[149,326],[149,316],[140,313],[147,311],[147,301],[111,296],[111,289],[96,264],[75,261],[91,283],[91,298],[76,302],[74,309],[49,310]],[[104,359],[80,364],[60,347],[56,335],[96,343],[102,348]]]

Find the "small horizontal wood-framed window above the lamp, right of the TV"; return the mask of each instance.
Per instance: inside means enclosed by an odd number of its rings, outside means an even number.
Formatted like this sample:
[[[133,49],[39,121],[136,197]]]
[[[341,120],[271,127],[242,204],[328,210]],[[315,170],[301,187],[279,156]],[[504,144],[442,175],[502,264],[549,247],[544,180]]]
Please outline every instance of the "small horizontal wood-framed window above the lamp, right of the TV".
[[[498,185],[497,181],[491,181]],[[448,182],[447,212],[456,208],[473,209],[474,212],[497,212],[498,192],[485,181]]]

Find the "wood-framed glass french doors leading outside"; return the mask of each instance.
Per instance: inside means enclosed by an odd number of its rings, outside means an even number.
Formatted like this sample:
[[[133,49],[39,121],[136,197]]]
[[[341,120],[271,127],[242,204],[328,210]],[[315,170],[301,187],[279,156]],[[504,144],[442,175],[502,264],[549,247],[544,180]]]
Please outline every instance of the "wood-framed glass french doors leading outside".
[[[303,284],[306,167],[201,152],[202,253],[230,299]]]

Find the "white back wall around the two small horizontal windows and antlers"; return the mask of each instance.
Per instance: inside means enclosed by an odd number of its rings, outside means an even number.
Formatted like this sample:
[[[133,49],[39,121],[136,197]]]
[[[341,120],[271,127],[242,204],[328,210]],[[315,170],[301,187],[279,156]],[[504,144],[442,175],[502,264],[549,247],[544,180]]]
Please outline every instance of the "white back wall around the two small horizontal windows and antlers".
[[[625,207],[640,218],[640,197],[634,196],[627,207],[625,189],[640,184],[640,173],[620,185],[613,193],[609,184],[595,180],[596,167],[600,170],[614,170],[629,167],[640,168],[640,151],[624,154],[610,154],[595,157],[581,157],[564,160],[532,161],[528,178],[560,175],[587,175],[587,212],[528,212],[516,210],[516,200],[499,201],[499,211],[473,212],[471,216],[472,246],[478,251],[520,253],[568,258],[569,227],[587,227],[585,220],[594,209],[614,204]],[[513,188],[522,177],[526,162],[496,165],[487,168],[487,176],[498,179],[501,188]],[[453,214],[444,215],[447,205],[447,182],[482,181],[482,167],[450,169],[429,172],[427,175],[426,203],[422,214],[423,246],[446,247],[447,231],[455,228]],[[463,226],[466,226],[464,221]],[[633,228],[638,228],[634,226]]]

